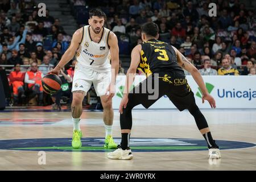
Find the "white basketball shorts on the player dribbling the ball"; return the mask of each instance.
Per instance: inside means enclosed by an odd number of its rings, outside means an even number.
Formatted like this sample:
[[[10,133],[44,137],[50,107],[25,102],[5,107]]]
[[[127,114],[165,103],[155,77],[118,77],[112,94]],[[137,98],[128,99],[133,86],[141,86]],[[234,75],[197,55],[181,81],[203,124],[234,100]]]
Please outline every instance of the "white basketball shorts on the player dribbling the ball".
[[[73,77],[72,92],[82,90],[87,94],[90,87],[94,86],[97,96],[104,96],[111,81],[111,69],[106,72],[97,72],[93,69],[76,64]]]

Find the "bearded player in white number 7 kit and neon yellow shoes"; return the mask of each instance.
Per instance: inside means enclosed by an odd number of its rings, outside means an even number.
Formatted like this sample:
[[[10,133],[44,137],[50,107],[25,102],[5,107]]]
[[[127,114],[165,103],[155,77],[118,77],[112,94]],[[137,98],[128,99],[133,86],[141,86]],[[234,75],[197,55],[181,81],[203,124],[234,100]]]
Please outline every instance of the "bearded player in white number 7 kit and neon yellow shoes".
[[[97,96],[101,98],[104,109],[105,148],[117,148],[112,137],[113,108],[112,97],[115,92],[115,77],[119,69],[119,48],[117,36],[108,28],[104,28],[105,13],[100,9],[89,11],[89,25],[79,28],[72,37],[71,44],[59,64],[51,73],[59,74],[75,55],[77,64],[73,77],[73,101],[71,105],[73,121],[72,147],[82,146],[80,117],[82,114],[82,100],[91,85],[94,85]],[[111,64],[110,64],[111,55]]]

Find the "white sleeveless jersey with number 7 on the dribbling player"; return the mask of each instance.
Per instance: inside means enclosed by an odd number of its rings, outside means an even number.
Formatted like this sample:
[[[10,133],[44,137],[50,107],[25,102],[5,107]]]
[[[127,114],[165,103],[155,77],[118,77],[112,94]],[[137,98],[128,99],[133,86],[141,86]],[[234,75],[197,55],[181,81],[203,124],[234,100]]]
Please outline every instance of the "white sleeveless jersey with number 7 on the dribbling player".
[[[100,42],[96,43],[90,38],[89,25],[84,26],[82,42],[76,55],[77,61],[84,67],[92,68],[98,72],[106,72],[111,68],[108,38],[110,30],[103,27]]]

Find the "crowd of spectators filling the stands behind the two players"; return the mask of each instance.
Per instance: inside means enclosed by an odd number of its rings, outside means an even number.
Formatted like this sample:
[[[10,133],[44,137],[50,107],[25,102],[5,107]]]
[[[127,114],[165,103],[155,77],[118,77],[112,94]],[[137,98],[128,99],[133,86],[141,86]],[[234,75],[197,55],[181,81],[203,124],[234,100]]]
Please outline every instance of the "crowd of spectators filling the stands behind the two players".
[[[208,5],[214,1],[67,2],[71,11],[87,12],[98,7],[106,13],[104,26],[117,35],[120,57],[130,55],[131,49],[142,43],[141,25],[155,22],[159,26],[159,40],[179,49],[201,75],[255,76],[254,7],[246,9],[245,4],[237,0],[215,1],[215,17],[208,14]],[[14,104],[36,97],[37,105],[47,105],[48,99],[55,109],[59,109],[64,96],[72,99],[70,90],[75,57],[60,73],[65,86],[52,98],[44,95],[40,80],[60,61],[72,35],[66,34],[60,19],[52,17],[49,10],[46,16],[39,17],[35,7],[33,0],[0,2],[0,69],[7,73]],[[88,24],[87,19],[77,20],[77,28],[85,24]],[[119,73],[125,74],[126,69],[120,64]],[[138,71],[138,74],[143,73]]]

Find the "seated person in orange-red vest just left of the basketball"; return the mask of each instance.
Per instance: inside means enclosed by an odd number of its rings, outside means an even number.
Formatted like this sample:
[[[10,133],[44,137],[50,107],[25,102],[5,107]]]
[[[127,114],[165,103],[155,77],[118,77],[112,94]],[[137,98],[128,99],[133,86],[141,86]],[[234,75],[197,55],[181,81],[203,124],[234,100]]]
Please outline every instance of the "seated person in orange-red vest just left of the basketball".
[[[43,105],[43,87],[41,82],[43,77],[43,73],[38,71],[38,64],[31,63],[31,70],[26,72],[24,82],[28,84],[28,89],[32,92],[30,98],[38,95],[39,106]]]

